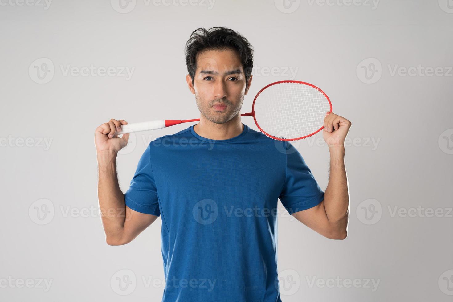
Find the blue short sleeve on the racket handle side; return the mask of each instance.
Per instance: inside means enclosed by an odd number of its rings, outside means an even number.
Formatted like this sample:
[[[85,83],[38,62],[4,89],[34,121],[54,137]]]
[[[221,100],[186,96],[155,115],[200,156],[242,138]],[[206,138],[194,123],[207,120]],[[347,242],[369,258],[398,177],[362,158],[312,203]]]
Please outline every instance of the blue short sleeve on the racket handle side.
[[[142,154],[130,187],[124,194],[126,206],[132,210],[160,216],[156,184],[151,166],[150,146]]]

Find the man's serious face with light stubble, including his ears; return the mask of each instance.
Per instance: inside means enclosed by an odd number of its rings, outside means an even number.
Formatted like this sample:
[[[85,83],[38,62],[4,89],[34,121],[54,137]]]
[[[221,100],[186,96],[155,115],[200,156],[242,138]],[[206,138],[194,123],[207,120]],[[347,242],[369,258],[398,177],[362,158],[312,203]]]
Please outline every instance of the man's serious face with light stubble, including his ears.
[[[246,89],[246,76],[238,54],[230,49],[198,53],[193,86],[189,75],[187,83],[195,94],[198,110],[216,124],[238,115],[250,87],[249,84]]]

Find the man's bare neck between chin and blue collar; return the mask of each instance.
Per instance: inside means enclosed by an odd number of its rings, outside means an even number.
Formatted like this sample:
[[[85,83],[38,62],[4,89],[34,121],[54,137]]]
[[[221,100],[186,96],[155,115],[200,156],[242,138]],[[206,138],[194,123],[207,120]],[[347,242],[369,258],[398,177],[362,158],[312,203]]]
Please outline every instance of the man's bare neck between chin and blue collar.
[[[198,135],[207,139],[231,139],[242,133],[244,127],[241,122],[241,115],[237,115],[223,124],[216,124],[200,115],[200,122],[193,126]]]

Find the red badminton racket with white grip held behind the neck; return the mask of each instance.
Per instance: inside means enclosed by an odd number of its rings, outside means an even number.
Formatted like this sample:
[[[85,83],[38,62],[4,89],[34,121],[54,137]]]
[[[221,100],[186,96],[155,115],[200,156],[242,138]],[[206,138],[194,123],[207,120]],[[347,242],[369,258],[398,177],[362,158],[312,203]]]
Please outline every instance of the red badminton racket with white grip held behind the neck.
[[[255,124],[266,136],[277,140],[298,140],[321,131],[332,103],[318,87],[302,81],[278,81],[263,87],[255,96],[252,112]],[[154,120],[122,125],[115,135],[155,130],[195,122],[194,120]]]

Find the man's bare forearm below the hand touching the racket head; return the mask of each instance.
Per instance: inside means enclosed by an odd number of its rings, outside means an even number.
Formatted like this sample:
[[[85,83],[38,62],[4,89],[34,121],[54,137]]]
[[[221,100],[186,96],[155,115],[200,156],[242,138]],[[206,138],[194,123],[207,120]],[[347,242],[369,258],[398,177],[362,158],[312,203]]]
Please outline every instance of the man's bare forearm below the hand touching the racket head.
[[[330,173],[324,194],[324,206],[329,224],[339,233],[347,232],[349,214],[349,192],[344,147],[329,148]]]

